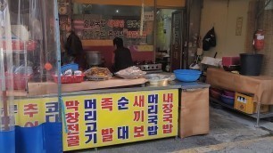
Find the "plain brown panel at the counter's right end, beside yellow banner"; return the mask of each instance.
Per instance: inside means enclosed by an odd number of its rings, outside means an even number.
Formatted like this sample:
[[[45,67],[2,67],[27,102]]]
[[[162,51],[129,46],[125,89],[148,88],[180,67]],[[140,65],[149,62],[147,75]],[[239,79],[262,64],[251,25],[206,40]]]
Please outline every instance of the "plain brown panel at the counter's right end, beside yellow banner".
[[[209,114],[209,88],[182,91],[178,136],[185,138],[209,133]]]

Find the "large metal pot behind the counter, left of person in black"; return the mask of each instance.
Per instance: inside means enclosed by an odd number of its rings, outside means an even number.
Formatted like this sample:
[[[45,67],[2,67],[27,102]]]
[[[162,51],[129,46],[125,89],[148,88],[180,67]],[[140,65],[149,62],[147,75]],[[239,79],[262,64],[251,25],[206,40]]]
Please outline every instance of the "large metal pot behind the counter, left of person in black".
[[[87,65],[88,66],[97,66],[102,64],[102,52],[98,51],[89,51],[87,53]]]

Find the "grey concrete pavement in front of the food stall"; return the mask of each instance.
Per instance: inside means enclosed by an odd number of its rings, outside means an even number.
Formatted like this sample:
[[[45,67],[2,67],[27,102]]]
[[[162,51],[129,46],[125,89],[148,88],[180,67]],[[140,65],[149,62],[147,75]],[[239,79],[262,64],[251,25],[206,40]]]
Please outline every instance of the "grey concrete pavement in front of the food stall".
[[[273,123],[261,120],[261,128],[255,128],[255,119],[228,109],[211,108],[210,117],[211,130],[206,135],[140,141],[72,153],[273,152]]]

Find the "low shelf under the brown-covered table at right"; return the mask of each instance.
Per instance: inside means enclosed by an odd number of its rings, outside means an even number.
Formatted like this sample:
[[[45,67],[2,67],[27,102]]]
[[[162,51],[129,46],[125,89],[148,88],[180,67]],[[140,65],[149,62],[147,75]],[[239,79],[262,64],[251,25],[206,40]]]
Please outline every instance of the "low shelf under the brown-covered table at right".
[[[221,105],[221,106],[223,106],[223,107],[225,107],[225,108],[227,108],[227,109],[233,109],[233,110],[235,110],[235,111],[237,111],[237,112],[240,112],[240,113],[242,113],[242,114],[244,114],[244,115],[246,115],[246,116],[249,116],[249,117],[257,118],[257,115],[258,115],[257,113],[255,113],[255,114],[246,114],[246,113],[244,113],[243,111],[234,109],[232,106],[229,106],[229,105],[225,104],[224,102],[219,101],[219,100],[216,100],[216,99],[214,99],[214,98],[212,98],[212,97],[210,97],[210,101],[216,102],[216,103],[218,103],[219,105]],[[273,117],[273,112],[261,113],[261,114],[260,114],[260,118],[267,118],[267,117]]]

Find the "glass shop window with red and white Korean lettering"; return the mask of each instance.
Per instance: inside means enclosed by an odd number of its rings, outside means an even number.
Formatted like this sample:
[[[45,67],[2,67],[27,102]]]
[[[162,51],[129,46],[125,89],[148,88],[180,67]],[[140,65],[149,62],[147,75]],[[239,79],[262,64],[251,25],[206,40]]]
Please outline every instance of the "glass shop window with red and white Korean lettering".
[[[82,40],[119,36],[125,45],[153,45],[153,19],[153,7],[74,4],[72,27]]]

